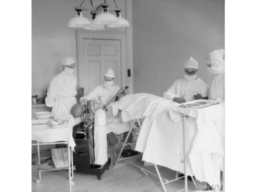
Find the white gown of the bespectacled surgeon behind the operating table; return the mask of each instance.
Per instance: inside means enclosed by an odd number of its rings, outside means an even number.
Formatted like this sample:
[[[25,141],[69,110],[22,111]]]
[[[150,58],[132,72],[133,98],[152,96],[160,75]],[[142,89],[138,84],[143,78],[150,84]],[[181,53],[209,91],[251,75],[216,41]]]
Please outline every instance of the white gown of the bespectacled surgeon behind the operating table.
[[[164,92],[164,98],[173,100],[174,97],[183,97],[185,94],[186,102],[195,100],[193,95],[197,93],[201,94],[202,97],[209,95],[209,88],[204,81],[199,77],[193,81],[187,81],[186,79],[177,79],[174,81],[172,86],[168,88],[167,92]]]

